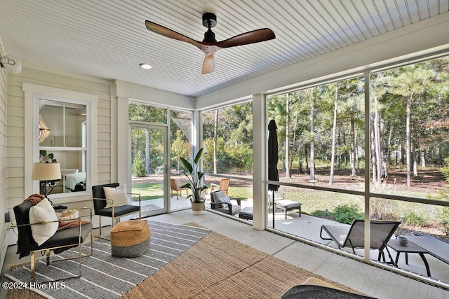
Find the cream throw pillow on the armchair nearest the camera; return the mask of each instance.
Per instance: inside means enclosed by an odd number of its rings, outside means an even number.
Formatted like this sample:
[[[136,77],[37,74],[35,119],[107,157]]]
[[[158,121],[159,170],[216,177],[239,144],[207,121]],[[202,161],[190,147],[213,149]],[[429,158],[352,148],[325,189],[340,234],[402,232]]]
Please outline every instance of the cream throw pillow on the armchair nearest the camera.
[[[29,223],[33,224],[49,221],[58,221],[58,217],[56,216],[55,209],[53,209],[50,202],[48,202],[48,199],[44,198],[41,202],[29,209]],[[36,241],[38,245],[45,243],[55,235],[58,226],[58,222],[31,225],[34,241]]]

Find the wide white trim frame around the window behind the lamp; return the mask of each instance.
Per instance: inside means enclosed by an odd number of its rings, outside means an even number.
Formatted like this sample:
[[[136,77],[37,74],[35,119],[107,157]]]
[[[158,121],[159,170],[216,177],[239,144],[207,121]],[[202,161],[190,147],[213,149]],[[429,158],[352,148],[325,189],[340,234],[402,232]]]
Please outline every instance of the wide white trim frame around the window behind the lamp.
[[[86,146],[86,191],[76,193],[57,193],[51,195],[53,204],[78,202],[91,195],[91,186],[97,181],[97,110],[98,95],[45,85],[23,83],[25,92],[25,197],[39,193],[39,181],[32,181],[31,174],[35,162],[39,162],[39,100],[51,99],[56,102],[86,105],[87,141]],[[27,138],[28,137],[28,138]]]

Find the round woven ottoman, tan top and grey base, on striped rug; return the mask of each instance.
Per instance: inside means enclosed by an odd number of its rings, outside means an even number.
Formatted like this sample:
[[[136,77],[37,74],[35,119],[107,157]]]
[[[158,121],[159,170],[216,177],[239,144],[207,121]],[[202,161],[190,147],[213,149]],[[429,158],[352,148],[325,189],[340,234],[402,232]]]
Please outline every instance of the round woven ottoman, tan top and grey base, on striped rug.
[[[112,256],[135,258],[149,247],[151,232],[145,220],[119,222],[111,230]]]

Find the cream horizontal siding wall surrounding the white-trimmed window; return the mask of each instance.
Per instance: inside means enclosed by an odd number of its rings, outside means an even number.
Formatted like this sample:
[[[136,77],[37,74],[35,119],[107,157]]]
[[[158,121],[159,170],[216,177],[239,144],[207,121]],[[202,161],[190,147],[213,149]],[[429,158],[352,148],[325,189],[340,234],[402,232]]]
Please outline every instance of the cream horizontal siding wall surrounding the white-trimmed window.
[[[112,81],[89,81],[61,76],[36,69],[22,68],[17,76],[8,76],[8,207],[14,207],[25,194],[25,97],[22,83],[46,85],[52,88],[74,90],[98,95],[98,151],[94,161],[98,167],[98,183],[109,183],[111,178],[111,85]],[[58,202],[59,203],[59,202]]]

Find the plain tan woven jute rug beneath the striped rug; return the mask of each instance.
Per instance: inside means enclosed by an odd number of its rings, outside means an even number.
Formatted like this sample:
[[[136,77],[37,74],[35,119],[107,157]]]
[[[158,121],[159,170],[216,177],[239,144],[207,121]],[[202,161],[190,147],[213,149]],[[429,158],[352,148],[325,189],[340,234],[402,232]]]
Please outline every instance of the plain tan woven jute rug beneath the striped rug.
[[[120,298],[281,298],[309,277],[358,293],[212,231]],[[21,290],[8,298],[42,297]]]

